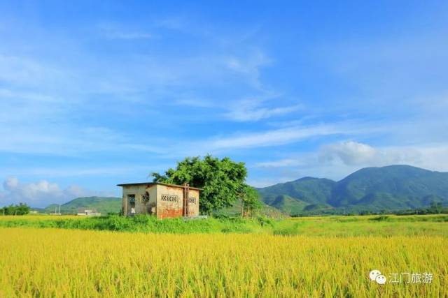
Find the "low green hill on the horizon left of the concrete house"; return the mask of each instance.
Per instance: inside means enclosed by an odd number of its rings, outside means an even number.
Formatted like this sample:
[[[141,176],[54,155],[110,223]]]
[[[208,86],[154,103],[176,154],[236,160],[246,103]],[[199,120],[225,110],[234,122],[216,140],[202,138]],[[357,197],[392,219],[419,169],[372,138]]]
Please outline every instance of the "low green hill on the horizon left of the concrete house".
[[[78,209],[96,209],[101,214],[118,213],[121,209],[121,198],[114,197],[86,197],[76,198],[70,202],[61,205],[62,214],[76,214]],[[55,212],[55,208],[59,209],[58,204],[50,204],[50,206],[39,211],[44,213]]]

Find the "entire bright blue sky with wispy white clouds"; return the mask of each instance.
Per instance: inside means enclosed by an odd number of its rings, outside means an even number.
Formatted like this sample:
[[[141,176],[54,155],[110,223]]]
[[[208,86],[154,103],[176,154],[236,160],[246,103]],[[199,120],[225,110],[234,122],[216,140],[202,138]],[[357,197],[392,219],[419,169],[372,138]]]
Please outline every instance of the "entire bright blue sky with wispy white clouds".
[[[448,171],[447,1],[2,1],[0,205],[185,156],[248,182]]]

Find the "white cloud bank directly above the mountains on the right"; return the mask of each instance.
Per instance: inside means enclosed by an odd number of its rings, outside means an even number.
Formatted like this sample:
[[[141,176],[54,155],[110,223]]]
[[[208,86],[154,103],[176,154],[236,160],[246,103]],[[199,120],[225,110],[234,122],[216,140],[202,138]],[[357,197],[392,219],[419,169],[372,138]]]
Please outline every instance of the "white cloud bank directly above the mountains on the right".
[[[269,176],[276,175],[274,182],[278,183],[304,176],[338,180],[363,167],[396,164],[448,172],[448,144],[372,147],[349,140],[326,144],[315,152],[255,163],[254,167],[266,168]]]

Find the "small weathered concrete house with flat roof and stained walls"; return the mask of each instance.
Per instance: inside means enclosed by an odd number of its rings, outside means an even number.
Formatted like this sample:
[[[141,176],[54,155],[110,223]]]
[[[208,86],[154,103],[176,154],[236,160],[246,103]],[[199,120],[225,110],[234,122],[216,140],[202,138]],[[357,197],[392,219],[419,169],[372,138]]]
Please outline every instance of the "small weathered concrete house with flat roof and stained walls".
[[[125,216],[152,214],[157,218],[199,216],[201,188],[159,182],[118,184],[123,187]]]

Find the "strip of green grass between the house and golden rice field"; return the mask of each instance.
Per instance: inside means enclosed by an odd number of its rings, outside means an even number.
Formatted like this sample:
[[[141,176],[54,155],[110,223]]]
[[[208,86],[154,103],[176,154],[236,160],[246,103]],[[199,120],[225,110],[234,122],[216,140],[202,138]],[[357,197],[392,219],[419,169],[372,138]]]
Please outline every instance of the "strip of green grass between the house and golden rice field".
[[[448,216],[319,216],[303,218],[183,218],[153,216],[0,216],[4,228],[62,228],[154,234],[275,234],[315,237],[428,235],[448,237]]]

